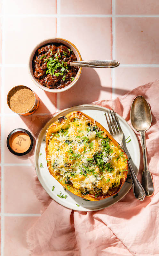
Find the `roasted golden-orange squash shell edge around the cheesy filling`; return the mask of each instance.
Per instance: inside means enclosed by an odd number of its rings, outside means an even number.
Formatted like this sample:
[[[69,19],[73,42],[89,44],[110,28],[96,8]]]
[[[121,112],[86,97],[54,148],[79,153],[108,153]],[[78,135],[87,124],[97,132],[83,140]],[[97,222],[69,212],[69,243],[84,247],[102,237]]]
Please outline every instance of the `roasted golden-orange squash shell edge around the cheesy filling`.
[[[96,127],[98,127],[99,131],[102,132],[102,134],[106,137],[108,137],[112,143],[112,145],[114,144],[117,148],[118,148],[118,152],[120,152],[120,155],[122,155],[122,157],[119,156],[119,153],[116,153],[116,157],[114,160],[114,164],[116,166],[116,164],[119,162],[120,164],[120,168],[123,167],[122,172],[122,177],[120,178],[120,184],[116,187],[109,187],[108,191],[106,193],[103,194],[85,194],[83,195],[82,193],[80,193],[80,191],[75,188],[73,186],[73,184],[66,184],[66,180],[64,179],[60,179],[60,173],[59,172],[54,172],[54,168],[52,166],[51,160],[50,160],[50,153],[49,153],[49,143],[52,140],[52,134],[58,132],[61,128],[64,128],[68,125],[68,121],[71,122],[74,119],[81,119],[81,118],[85,118],[87,119],[87,121],[93,125],[96,125]],[[52,176],[67,190],[69,190],[70,192],[72,192],[73,194],[83,198],[83,199],[87,199],[90,201],[99,201],[99,200],[103,200],[105,198],[108,198],[110,196],[114,196],[115,194],[117,194],[119,192],[119,190],[122,188],[126,178],[127,178],[127,169],[128,169],[128,163],[127,163],[127,155],[124,153],[123,149],[120,148],[119,144],[115,141],[115,139],[109,134],[109,132],[103,127],[101,126],[101,124],[99,124],[97,121],[95,121],[94,119],[92,119],[91,117],[87,116],[86,114],[80,112],[80,111],[73,111],[69,114],[66,115],[66,117],[62,116],[61,118],[58,118],[58,121],[56,121],[55,123],[53,123],[52,125],[50,125],[50,127],[47,130],[46,133],[46,160],[47,160],[47,166],[48,166],[48,170],[50,172],[50,174],[52,174]],[[123,160],[124,159],[124,160]],[[119,165],[118,164],[118,165]]]

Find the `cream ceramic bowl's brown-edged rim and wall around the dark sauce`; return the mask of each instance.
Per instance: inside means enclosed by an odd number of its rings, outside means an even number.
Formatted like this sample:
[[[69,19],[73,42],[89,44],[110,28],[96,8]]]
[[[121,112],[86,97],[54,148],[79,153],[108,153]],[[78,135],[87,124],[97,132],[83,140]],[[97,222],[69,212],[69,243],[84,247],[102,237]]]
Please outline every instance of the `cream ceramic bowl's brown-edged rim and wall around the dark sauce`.
[[[81,72],[82,72],[82,67],[80,67],[78,69],[78,72],[75,76],[75,79],[69,84],[67,85],[66,87],[64,88],[61,88],[61,89],[49,89],[43,85],[41,85],[37,80],[36,78],[34,77],[34,73],[33,73],[33,67],[32,67],[32,62],[33,62],[33,57],[35,55],[35,52],[37,49],[41,48],[42,46],[48,44],[48,43],[62,43],[66,46],[69,47],[69,49],[71,49],[75,55],[76,55],[76,58],[77,58],[77,61],[82,61],[82,58],[81,58],[81,54],[79,53],[78,49],[76,48],[76,46],[69,42],[68,40],[66,39],[62,39],[62,38],[57,38],[57,37],[54,37],[54,38],[50,38],[50,39],[46,39],[44,41],[42,41],[41,43],[37,44],[36,47],[33,49],[33,51],[31,52],[31,55],[29,57],[29,63],[28,63],[28,66],[29,66],[29,73],[31,75],[31,79],[33,80],[33,82],[41,89],[43,89],[44,91],[47,91],[47,92],[51,92],[51,93],[60,93],[60,92],[64,92],[68,89],[70,89],[74,84],[76,84],[76,82],[78,81],[80,75],[81,75]]]

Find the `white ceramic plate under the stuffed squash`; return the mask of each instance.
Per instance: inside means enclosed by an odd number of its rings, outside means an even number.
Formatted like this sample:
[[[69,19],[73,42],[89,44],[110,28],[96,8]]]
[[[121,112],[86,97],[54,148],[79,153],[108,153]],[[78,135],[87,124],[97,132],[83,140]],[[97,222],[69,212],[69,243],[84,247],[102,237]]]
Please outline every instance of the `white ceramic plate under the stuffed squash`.
[[[98,121],[103,127],[105,127],[108,131],[107,122],[104,116],[104,111],[106,111],[107,108],[96,106],[96,105],[80,105],[75,106],[72,108],[68,108],[65,110],[60,111],[58,114],[56,114],[41,130],[37,141],[36,141],[36,147],[35,147],[35,167],[36,167],[36,173],[37,177],[43,186],[44,190],[50,195],[52,199],[54,199],[59,204],[68,207],[73,210],[79,210],[79,211],[95,211],[99,209],[103,209],[105,207],[108,207],[112,204],[115,204],[120,199],[123,198],[127,194],[127,192],[131,189],[131,184],[128,182],[125,182],[123,184],[123,187],[118,193],[118,196],[115,198],[109,197],[100,201],[85,201],[82,198],[74,195],[73,193],[69,192],[68,190],[64,190],[63,186],[56,181],[52,175],[50,175],[47,163],[46,163],[46,157],[45,157],[45,135],[47,128],[57,121],[58,117],[65,116],[66,114],[72,112],[72,111],[82,111],[83,113],[87,114],[88,116],[92,117],[96,121]],[[125,143],[128,149],[128,156],[131,156],[131,164],[132,168],[134,169],[134,172],[136,175],[139,171],[139,164],[140,164],[140,150],[139,150],[139,143],[137,140],[137,137],[132,130],[132,128],[129,126],[129,124],[117,114],[117,117],[119,118],[121,128],[123,130],[125,138],[129,137],[131,141],[129,143]],[[40,163],[43,164],[43,167],[40,168]],[[129,173],[128,173],[129,175]],[[55,186],[55,189],[52,191],[52,185]],[[57,194],[60,194],[60,191],[62,194],[67,195],[66,199],[61,199],[57,196]],[[79,205],[79,206],[78,206]]]

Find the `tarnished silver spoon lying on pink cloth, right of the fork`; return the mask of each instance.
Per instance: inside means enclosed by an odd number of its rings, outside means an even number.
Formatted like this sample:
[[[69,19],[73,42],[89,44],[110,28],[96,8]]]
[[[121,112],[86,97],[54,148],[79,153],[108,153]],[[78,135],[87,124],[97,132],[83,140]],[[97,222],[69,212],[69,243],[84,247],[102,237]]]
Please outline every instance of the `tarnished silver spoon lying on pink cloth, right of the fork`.
[[[145,131],[147,131],[152,122],[150,107],[143,96],[137,96],[131,105],[130,111],[131,124],[133,128],[140,133],[141,145],[144,161],[144,170],[142,172],[142,186],[146,192],[146,196],[150,197],[154,194],[154,184],[147,164]]]

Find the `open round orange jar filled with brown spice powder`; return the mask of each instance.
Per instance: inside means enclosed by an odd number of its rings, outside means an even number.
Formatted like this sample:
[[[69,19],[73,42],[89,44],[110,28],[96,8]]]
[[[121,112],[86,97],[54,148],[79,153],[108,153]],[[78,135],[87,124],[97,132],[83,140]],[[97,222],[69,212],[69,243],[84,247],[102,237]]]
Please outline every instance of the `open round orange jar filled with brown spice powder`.
[[[29,87],[18,85],[9,91],[7,104],[14,113],[29,116],[38,109],[39,97]]]

